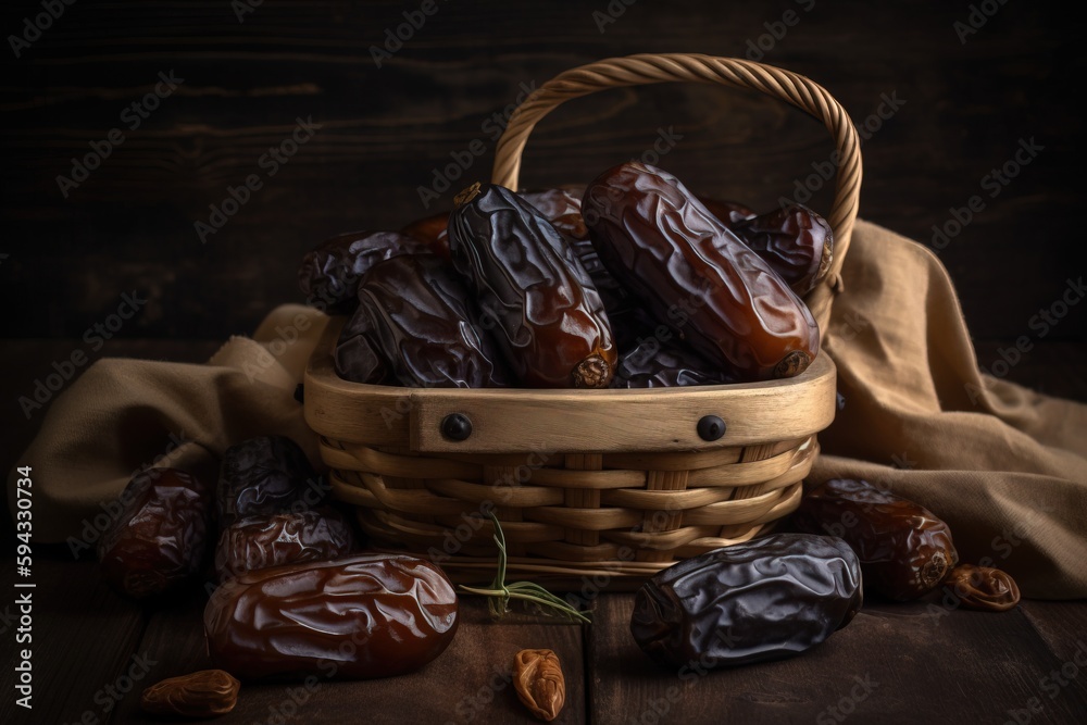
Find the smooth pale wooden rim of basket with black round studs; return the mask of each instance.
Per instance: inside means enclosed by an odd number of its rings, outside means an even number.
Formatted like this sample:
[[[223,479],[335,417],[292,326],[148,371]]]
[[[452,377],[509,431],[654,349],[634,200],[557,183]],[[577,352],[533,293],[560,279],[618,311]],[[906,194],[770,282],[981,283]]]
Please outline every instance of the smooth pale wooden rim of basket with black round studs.
[[[760,383],[667,389],[404,388],[351,383],[333,365],[346,317],[334,317],[305,370],[309,426],[332,439],[421,453],[507,453],[534,446],[558,452],[712,450],[802,438],[824,429],[835,413],[836,368],[825,353],[797,377]],[[464,441],[440,434],[454,412],[476,426]],[[721,415],[725,435],[702,440],[705,414]],[[546,418],[538,424],[533,416]],[[632,415],[634,420],[632,420]],[[510,425],[501,425],[503,420]],[[675,429],[661,429],[662,421]],[[694,423],[692,423],[694,421]],[[520,441],[520,442],[518,442]],[[577,445],[580,441],[580,445]]]

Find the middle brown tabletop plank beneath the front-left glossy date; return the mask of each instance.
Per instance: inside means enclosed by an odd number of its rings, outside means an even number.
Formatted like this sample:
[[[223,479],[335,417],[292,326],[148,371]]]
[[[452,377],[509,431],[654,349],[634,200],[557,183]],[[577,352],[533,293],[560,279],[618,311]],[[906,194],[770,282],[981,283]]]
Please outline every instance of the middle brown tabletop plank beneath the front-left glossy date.
[[[203,602],[155,614],[139,649],[160,660],[162,677],[211,666],[202,625]],[[513,614],[491,622],[480,598],[461,600],[461,622],[452,643],[423,670],[387,679],[243,684],[234,712],[216,723],[538,723],[517,700],[511,684],[513,658],[524,648],[555,651],[566,680],[566,705],[555,723],[584,723],[587,703],[578,626]],[[150,684],[150,683],[148,683]],[[116,723],[160,723],[126,699]]]

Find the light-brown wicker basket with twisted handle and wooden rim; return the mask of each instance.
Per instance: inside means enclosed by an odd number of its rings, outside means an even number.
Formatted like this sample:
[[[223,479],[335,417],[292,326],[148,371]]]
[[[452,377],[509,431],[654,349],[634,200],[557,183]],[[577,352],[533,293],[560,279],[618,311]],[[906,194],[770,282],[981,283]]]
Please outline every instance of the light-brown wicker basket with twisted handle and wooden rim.
[[[826,282],[805,298],[826,329],[857,216],[860,148],[841,107],[802,76],[691,54],[567,71],[510,120],[495,183],[517,188],[528,134],[562,101],[663,82],[759,90],[833,134],[835,255]],[[334,496],[358,507],[372,545],[429,555],[459,582],[493,572],[490,511],[505,532],[511,576],[580,580],[580,588],[634,586],[678,559],[750,539],[796,509],[819,450],[815,434],[834,418],[835,368],[825,354],[795,378],[741,385],[397,388],[337,377],[332,350],[342,324],[329,325],[305,374],[305,418],[322,437]]]

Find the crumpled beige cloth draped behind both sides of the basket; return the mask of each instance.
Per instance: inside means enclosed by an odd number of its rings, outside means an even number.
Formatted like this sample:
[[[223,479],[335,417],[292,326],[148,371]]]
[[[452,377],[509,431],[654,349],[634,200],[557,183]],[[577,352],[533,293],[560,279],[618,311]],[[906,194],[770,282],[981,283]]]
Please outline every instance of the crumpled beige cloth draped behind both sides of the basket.
[[[811,480],[886,486],[944,517],[963,561],[988,559],[1025,596],[1087,597],[1087,405],[983,379],[951,282],[922,246],[859,222],[842,278],[824,342],[840,410]],[[191,439],[166,461],[182,467],[214,465],[260,434],[288,435],[316,461],[293,390],[326,322],[285,305],[204,365],[93,364],[20,459],[35,470],[35,538],[92,537],[100,504],[171,434]]]

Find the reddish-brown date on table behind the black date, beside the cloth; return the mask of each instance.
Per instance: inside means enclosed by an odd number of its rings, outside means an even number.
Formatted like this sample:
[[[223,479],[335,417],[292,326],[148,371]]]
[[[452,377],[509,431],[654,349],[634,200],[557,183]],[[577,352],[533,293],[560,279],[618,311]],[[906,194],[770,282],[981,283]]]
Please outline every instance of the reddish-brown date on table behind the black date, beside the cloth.
[[[865,480],[836,478],[815,487],[792,522],[802,532],[844,538],[861,560],[865,586],[898,601],[928,593],[959,561],[946,523]]]

